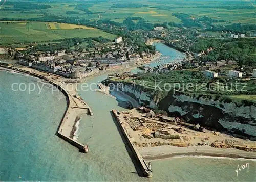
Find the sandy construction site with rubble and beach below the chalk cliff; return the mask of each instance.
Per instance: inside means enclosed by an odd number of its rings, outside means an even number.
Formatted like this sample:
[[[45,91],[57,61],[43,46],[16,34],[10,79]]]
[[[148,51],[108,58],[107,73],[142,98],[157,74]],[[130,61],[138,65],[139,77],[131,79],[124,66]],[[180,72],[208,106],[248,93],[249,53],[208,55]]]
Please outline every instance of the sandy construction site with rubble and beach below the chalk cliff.
[[[255,141],[210,131],[145,107],[118,114],[122,127],[145,160],[184,154],[256,158]]]

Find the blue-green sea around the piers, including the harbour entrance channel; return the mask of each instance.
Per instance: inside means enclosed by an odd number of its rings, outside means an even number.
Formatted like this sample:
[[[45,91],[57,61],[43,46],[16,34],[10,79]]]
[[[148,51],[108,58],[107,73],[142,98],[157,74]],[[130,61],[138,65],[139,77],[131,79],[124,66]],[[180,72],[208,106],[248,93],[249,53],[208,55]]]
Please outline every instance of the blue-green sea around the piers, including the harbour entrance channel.
[[[164,55],[181,55],[163,44],[155,45]],[[28,90],[31,83],[36,85],[34,91]],[[140,177],[110,112],[126,109],[119,106],[119,100],[94,89],[95,84],[89,91],[78,87],[94,113],[81,118],[76,132],[76,139],[89,145],[89,153],[84,154],[56,135],[67,104],[61,92],[52,92],[51,85],[34,77],[0,71],[0,180],[256,181],[255,160],[217,157],[152,161],[153,178]]]

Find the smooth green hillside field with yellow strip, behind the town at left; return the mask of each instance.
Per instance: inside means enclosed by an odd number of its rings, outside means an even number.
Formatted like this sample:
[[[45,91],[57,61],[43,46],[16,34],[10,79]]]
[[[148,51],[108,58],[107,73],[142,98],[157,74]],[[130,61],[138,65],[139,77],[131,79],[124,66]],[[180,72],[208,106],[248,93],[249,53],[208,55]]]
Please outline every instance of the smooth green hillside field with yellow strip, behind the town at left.
[[[65,38],[87,38],[87,37],[105,37],[113,40],[116,36],[103,32],[101,30],[91,29],[72,29],[71,24],[55,23],[57,29],[49,29],[47,22],[13,22],[7,24],[0,22],[0,43],[26,43],[26,42],[42,42],[52,41]],[[64,29],[61,29],[64,28]],[[68,28],[69,29],[68,29]],[[78,27],[74,25],[73,28]],[[60,29],[59,29],[60,28]]]

